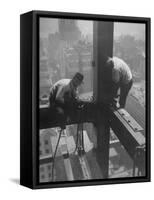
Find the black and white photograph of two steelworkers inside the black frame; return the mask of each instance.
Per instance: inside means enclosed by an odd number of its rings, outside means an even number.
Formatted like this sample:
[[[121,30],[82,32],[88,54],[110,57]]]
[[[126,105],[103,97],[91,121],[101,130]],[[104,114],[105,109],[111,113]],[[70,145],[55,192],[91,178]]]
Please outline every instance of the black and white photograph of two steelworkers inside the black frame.
[[[146,177],[146,29],[39,17],[39,184]]]

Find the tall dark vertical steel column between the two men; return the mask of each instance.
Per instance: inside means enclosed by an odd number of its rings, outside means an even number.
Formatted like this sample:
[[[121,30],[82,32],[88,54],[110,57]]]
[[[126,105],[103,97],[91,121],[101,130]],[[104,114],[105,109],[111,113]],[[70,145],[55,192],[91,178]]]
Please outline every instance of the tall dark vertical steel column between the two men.
[[[110,91],[110,76],[105,72],[107,57],[113,53],[113,22],[94,22],[94,96],[98,103],[103,104]],[[105,107],[105,106],[104,106]],[[102,169],[103,178],[108,178],[109,168],[109,137],[110,129],[106,109],[97,111],[97,161]]]

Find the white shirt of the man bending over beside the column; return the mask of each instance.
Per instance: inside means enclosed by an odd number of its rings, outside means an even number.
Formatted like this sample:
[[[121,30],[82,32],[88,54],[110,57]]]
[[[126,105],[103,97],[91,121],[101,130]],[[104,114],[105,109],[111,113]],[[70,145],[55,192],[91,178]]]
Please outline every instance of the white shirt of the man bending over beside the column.
[[[114,67],[112,69],[112,80],[115,83],[121,81],[123,84],[129,83],[132,79],[132,73],[129,66],[120,58],[112,58]]]

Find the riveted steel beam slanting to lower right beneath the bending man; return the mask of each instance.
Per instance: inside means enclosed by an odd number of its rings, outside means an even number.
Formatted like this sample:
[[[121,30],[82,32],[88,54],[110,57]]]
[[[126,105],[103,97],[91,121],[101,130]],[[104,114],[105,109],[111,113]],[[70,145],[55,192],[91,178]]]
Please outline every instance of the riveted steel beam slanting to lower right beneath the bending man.
[[[138,147],[146,144],[142,127],[123,109],[110,109],[110,126],[130,157],[135,161]],[[144,156],[143,156],[144,155]],[[142,166],[145,167],[145,154],[142,154]]]

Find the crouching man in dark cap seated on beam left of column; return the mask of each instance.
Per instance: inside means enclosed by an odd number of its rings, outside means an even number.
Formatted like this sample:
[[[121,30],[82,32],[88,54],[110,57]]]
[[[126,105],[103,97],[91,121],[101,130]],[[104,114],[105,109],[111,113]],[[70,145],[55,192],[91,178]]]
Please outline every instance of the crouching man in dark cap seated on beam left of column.
[[[83,83],[83,75],[76,73],[72,79],[61,79],[50,89],[50,109],[54,110],[62,121],[68,119],[78,104],[78,87]]]

